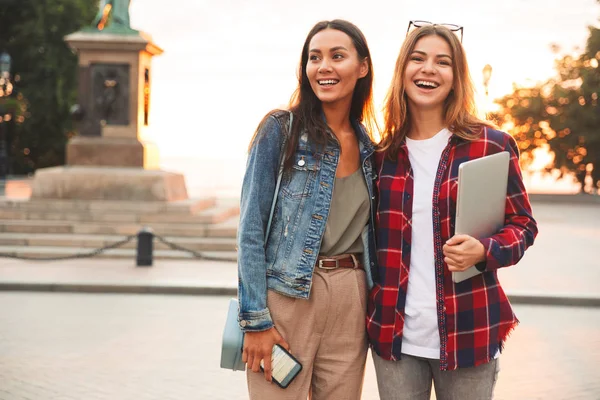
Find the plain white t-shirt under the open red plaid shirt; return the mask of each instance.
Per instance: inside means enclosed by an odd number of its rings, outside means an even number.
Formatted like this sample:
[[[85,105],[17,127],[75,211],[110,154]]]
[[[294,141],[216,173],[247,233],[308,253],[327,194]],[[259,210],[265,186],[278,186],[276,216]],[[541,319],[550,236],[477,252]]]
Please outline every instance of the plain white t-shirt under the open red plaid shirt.
[[[442,152],[451,136],[448,129],[442,129],[429,139],[406,138],[414,194],[402,353],[431,359],[440,358],[433,247],[433,185]]]

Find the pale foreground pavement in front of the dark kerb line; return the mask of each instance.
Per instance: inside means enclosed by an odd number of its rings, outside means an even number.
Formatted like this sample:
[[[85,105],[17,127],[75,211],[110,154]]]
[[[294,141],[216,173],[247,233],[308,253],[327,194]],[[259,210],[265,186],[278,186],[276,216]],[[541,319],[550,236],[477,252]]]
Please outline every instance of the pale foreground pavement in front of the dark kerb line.
[[[0,293],[1,400],[246,399],[227,297]],[[600,309],[516,306],[496,399],[600,399]],[[378,399],[369,361],[364,400]]]

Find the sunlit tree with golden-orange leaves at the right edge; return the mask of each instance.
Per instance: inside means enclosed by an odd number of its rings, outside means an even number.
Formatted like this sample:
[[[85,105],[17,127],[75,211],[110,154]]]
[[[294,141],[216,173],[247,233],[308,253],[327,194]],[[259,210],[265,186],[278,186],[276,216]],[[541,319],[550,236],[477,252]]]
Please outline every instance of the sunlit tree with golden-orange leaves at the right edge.
[[[557,76],[542,84],[516,87],[498,100],[495,116],[519,142],[524,164],[548,146],[552,167],[575,173],[582,191],[592,168],[594,187],[600,186],[600,29],[589,30],[583,54],[557,60]]]

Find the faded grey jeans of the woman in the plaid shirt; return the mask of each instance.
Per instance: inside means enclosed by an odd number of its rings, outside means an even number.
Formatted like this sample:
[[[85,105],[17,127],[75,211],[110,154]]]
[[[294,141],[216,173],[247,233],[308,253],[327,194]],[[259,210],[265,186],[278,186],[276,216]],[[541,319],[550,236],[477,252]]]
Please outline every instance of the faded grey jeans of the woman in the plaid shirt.
[[[373,353],[381,400],[429,400],[432,381],[437,400],[491,400],[500,371],[498,361],[440,371],[439,360],[402,354],[401,360],[388,361]]]

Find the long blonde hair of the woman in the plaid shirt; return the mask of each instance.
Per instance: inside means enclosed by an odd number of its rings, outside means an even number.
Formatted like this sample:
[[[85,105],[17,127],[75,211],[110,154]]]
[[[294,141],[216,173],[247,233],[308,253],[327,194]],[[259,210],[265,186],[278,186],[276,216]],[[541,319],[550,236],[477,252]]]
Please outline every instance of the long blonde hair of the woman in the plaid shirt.
[[[384,129],[379,142],[379,151],[386,151],[388,158],[395,160],[402,140],[410,129],[410,113],[404,87],[404,72],[415,45],[422,37],[437,35],[444,39],[452,52],[453,89],[444,102],[444,121],[453,134],[466,140],[474,140],[484,126],[494,127],[480,119],[475,104],[473,81],[469,73],[467,58],[462,44],[452,31],[439,25],[427,25],[409,33],[400,48],[394,76],[383,108]]]

